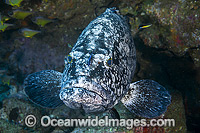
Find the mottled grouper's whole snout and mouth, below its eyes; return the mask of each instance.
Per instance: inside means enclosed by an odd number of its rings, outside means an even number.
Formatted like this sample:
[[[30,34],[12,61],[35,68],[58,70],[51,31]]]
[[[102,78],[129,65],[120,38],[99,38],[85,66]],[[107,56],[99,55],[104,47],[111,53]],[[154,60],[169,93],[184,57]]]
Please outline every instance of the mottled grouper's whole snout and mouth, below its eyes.
[[[111,102],[110,93],[87,76],[63,82],[60,99],[70,108],[83,108],[86,113],[103,112]]]

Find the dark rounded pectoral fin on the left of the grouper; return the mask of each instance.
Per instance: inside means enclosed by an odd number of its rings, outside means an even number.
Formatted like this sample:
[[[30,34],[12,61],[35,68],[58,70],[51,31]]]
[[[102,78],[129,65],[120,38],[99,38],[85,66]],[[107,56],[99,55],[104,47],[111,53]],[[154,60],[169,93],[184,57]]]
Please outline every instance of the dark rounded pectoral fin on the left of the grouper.
[[[62,73],[44,70],[28,75],[24,80],[24,90],[29,99],[43,107],[56,108],[63,104],[59,93]]]

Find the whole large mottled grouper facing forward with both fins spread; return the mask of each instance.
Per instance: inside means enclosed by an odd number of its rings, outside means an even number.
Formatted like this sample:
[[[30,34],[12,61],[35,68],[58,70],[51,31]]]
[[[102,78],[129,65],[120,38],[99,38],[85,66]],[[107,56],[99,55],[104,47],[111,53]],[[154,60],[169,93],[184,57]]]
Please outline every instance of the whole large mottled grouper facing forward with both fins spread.
[[[146,118],[162,115],[171,102],[168,91],[153,80],[132,83],[136,50],[127,19],[108,8],[82,31],[63,73],[43,70],[27,76],[25,93],[43,107],[63,103],[85,113],[112,110],[121,101],[132,113]]]

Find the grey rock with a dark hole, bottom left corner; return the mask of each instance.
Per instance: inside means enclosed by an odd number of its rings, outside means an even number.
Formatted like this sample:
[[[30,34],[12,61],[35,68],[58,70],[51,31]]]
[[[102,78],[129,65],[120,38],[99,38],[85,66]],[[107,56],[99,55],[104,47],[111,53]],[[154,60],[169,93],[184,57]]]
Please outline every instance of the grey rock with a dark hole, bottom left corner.
[[[18,127],[15,132],[19,129],[24,129],[20,127],[26,127],[24,120],[26,116],[30,114],[34,115],[37,120],[42,116],[39,110],[36,107],[33,107],[28,101],[15,97],[5,99],[3,101],[3,108],[0,110],[0,117],[4,120],[2,122],[5,122],[6,125],[10,123],[11,125]],[[35,130],[40,127],[40,124],[36,124],[32,129]],[[7,129],[5,128],[5,130]]]

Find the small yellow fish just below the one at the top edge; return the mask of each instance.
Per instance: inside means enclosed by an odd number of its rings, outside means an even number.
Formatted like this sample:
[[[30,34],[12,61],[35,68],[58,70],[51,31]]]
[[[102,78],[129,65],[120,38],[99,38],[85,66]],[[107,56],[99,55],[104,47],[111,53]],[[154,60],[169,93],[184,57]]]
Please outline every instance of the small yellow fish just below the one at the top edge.
[[[16,18],[16,19],[25,19],[27,16],[33,14],[30,11],[23,11],[23,10],[13,10],[11,12],[8,13],[9,16]]]

